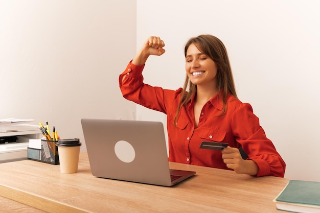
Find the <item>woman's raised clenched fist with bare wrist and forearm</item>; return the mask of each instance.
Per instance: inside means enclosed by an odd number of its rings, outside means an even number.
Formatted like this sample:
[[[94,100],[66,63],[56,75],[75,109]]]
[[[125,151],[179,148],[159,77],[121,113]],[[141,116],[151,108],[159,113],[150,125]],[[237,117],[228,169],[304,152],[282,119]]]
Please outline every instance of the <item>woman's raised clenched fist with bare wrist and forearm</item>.
[[[161,56],[166,51],[163,49],[165,42],[158,36],[150,36],[143,44],[140,51],[135,55],[132,60],[134,65],[143,65],[146,63],[150,55]]]

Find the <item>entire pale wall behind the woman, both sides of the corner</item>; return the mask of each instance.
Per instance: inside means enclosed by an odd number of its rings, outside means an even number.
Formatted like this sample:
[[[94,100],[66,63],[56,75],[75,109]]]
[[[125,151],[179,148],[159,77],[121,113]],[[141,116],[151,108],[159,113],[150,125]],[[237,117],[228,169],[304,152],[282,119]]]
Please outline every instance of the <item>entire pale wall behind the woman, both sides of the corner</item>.
[[[285,177],[320,181],[319,8],[317,0],[0,0],[0,118],[48,120],[61,137],[84,141],[82,117],[133,119],[118,75],[135,43],[165,40],[144,77],[176,89],[186,41],[209,33],[226,45],[238,96],[285,159]],[[138,120],[166,121],[136,110]]]

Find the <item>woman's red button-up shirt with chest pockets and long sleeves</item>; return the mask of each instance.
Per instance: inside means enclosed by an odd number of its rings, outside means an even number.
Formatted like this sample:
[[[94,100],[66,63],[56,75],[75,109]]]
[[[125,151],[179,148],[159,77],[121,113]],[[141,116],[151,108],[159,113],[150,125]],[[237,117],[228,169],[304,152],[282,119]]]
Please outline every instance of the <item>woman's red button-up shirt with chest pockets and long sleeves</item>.
[[[182,88],[169,90],[144,84],[143,68],[144,65],[136,66],[130,62],[119,77],[120,89],[124,98],[167,114],[169,161],[228,169],[221,151],[199,149],[203,140],[218,141],[228,143],[230,147],[242,147],[248,159],[258,164],[258,177],[284,176],[285,162],[266,137],[250,104],[242,103],[230,94],[226,113],[217,116],[223,104],[216,95],[203,106],[198,127],[195,128],[192,99],[186,107],[182,107],[174,126]]]

